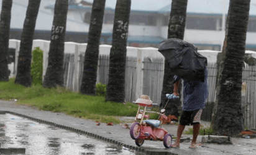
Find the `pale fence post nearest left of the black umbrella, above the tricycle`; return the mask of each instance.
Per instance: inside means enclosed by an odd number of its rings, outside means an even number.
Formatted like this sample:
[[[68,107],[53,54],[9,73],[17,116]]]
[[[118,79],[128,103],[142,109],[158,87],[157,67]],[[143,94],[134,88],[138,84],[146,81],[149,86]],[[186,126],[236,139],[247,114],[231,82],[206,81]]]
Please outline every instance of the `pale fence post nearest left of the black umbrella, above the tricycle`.
[[[135,92],[135,99],[138,99],[142,95],[143,90],[143,58],[142,58],[142,49],[137,50],[137,63],[136,63],[136,72],[137,72],[137,79],[136,79],[136,92]]]

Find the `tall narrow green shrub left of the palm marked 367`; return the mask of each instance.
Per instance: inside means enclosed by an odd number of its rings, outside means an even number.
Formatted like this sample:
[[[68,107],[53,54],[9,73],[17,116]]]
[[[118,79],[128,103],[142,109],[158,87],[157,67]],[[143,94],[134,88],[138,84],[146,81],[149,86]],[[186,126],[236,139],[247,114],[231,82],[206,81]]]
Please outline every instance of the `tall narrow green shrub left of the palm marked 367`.
[[[43,74],[43,51],[39,47],[36,47],[32,51],[32,64],[31,64],[31,76],[33,78],[33,84],[42,84]]]

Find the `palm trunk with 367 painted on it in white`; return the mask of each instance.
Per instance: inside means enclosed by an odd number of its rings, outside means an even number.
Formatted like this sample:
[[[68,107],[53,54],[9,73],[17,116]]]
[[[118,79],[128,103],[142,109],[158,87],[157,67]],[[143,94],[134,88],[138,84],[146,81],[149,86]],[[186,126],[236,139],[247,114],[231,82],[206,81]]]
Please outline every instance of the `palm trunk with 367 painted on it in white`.
[[[64,85],[63,59],[64,41],[66,32],[66,15],[68,13],[68,0],[56,0],[48,66],[43,79],[43,87],[56,87]]]

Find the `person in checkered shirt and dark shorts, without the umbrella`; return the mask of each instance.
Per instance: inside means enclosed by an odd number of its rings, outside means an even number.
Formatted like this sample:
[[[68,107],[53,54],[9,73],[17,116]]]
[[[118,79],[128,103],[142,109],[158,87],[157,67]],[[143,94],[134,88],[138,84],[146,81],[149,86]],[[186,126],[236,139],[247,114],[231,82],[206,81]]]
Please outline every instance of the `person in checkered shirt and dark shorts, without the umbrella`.
[[[177,99],[178,86],[181,78],[173,77],[174,91],[173,94],[167,94],[168,99]],[[193,125],[193,139],[190,148],[196,148],[196,139],[200,128],[200,119],[205,102],[208,97],[208,69],[204,68],[204,82],[186,82],[183,80],[183,111],[181,112],[180,122],[176,136],[176,142],[171,148],[180,148],[180,138],[186,125]]]

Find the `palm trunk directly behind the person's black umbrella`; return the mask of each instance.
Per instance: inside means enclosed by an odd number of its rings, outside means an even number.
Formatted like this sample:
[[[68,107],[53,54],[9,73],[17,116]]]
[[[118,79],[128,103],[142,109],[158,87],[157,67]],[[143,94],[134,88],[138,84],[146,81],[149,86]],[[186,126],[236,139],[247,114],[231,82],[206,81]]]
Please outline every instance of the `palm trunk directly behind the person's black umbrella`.
[[[173,0],[171,2],[171,13],[168,25],[168,38],[179,38],[183,40],[186,25],[186,7],[188,0]],[[163,75],[163,89],[161,94],[160,107],[165,107],[167,97],[165,94],[173,92],[173,76],[168,65],[168,60],[165,60],[165,70]],[[180,89],[179,89],[180,90]],[[178,117],[178,107],[181,105],[180,100],[171,100],[166,107],[167,115],[175,115]]]

